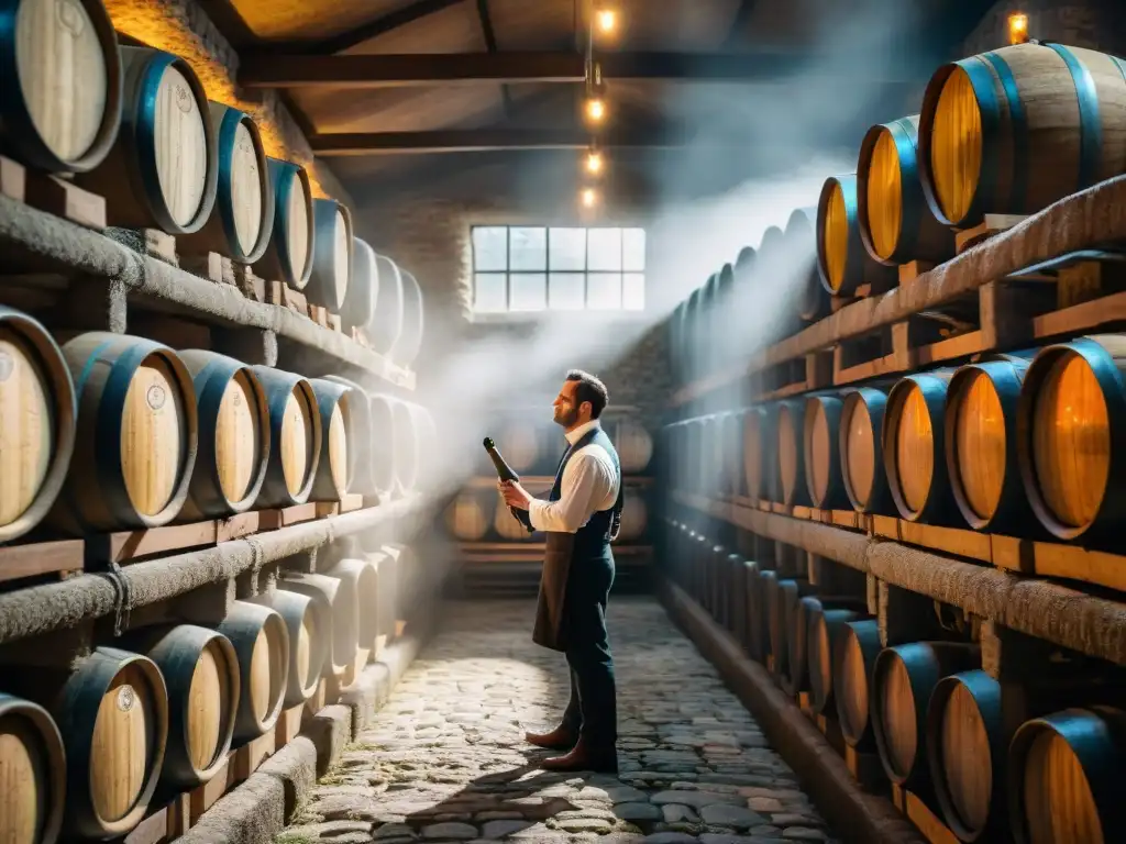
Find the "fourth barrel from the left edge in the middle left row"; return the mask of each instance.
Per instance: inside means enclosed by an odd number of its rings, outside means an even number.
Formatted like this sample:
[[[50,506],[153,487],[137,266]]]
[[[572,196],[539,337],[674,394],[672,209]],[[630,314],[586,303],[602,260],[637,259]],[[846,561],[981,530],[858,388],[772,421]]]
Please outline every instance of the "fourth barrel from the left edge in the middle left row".
[[[309,501],[320,466],[323,427],[313,385],[300,375],[252,366],[270,411],[270,461],[256,505]]]

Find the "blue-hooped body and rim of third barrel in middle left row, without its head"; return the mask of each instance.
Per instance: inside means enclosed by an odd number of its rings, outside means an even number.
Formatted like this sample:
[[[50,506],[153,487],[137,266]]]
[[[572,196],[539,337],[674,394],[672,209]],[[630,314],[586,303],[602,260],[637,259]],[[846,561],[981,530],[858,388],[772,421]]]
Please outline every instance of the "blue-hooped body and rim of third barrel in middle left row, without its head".
[[[259,399],[256,404],[256,415],[258,416],[258,433],[261,442],[259,443],[258,469],[251,478],[247,494],[241,501],[231,502],[227,501],[218,477],[218,466],[215,455],[215,437],[217,433],[215,430],[215,420],[218,417],[218,408],[223,403],[223,396],[226,393],[227,386],[240,374],[245,374],[250,388],[257,394]],[[266,393],[262,389],[261,381],[258,380],[258,376],[254,375],[254,371],[250,367],[225,356],[215,356],[200,369],[196,374],[193,386],[195,387],[196,404],[200,417],[197,459],[203,459],[206,466],[206,474],[200,478],[203,483],[195,484],[195,488],[191,490],[193,503],[197,510],[208,517],[225,517],[232,512],[241,513],[249,509],[258,497],[258,493],[262,488],[262,483],[266,481],[266,470],[269,466],[271,437],[269,414],[266,408]]]

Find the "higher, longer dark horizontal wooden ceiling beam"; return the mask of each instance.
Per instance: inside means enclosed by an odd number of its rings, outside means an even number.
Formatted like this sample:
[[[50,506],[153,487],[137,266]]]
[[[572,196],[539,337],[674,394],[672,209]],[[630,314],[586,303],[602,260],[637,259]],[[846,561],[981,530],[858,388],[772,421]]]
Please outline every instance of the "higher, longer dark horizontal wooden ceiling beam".
[[[816,56],[794,51],[750,53],[606,53],[599,62],[608,80],[770,82],[808,72]],[[863,64],[857,77],[864,77]],[[815,73],[813,74],[815,75]],[[905,69],[900,79],[917,81]],[[282,55],[248,53],[240,84],[248,88],[386,88],[482,82],[582,82],[583,57],[570,52],[411,53],[396,55]]]

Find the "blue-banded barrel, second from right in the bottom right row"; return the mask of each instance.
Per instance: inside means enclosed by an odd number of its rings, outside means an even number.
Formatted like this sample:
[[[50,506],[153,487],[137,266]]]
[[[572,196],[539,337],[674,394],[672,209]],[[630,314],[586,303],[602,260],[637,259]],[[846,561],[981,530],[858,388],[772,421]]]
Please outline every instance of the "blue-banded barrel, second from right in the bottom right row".
[[[927,704],[927,762],[946,825],[965,842],[1004,825],[1008,733],[1001,684],[980,668],[942,677]]]

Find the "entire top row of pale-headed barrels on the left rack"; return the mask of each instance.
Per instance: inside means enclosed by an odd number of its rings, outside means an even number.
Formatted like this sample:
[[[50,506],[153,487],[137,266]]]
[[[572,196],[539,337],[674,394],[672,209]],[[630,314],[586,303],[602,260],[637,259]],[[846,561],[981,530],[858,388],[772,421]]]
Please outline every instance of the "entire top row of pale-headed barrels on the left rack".
[[[256,122],[207,99],[184,59],[118,44],[100,0],[17,0],[0,52],[0,145],[35,170],[106,199],[107,221],[177,237],[304,291],[400,366],[421,349],[413,275],[352,231],[351,212],[315,198],[301,164],[266,154]],[[44,56],[51,56],[51,61]]]

